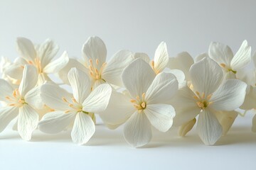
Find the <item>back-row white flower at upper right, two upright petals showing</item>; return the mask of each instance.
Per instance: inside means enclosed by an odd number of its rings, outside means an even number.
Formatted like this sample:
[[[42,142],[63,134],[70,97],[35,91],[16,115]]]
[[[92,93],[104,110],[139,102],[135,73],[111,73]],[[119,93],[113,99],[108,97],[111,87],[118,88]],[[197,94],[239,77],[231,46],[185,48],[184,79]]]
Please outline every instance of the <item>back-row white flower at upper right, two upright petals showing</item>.
[[[209,56],[223,68],[225,79],[236,79],[237,72],[251,61],[251,47],[247,45],[247,40],[244,40],[238,52],[233,55],[228,45],[211,42]]]

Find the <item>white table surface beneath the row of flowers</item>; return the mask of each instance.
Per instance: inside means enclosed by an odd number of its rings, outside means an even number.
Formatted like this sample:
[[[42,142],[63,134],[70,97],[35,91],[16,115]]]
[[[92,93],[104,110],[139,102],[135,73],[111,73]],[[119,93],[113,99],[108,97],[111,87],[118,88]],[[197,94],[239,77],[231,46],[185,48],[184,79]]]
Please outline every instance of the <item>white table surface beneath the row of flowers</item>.
[[[256,134],[252,114],[238,117],[228,135],[205,146],[196,128],[181,138],[177,129],[154,130],[145,147],[124,141],[122,126],[108,130],[102,123],[87,145],[73,144],[70,131],[47,135],[36,130],[31,142],[9,126],[0,134],[0,169],[254,169]]]

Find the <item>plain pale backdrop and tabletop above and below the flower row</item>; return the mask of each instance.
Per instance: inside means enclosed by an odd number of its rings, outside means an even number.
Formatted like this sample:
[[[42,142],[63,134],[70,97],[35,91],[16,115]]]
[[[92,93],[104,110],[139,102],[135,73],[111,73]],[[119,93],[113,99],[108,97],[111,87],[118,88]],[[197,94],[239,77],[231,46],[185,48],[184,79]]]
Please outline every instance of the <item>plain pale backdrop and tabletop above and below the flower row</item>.
[[[154,56],[165,41],[169,55],[188,51],[193,57],[208,51],[210,41],[230,45],[242,40],[256,47],[256,1],[82,1],[0,0],[0,55],[18,57],[16,37],[40,43],[55,40],[72,57],[81,57],[91,35],[105,41],[108,57],[121,49]],[[85,146],[74,145],[69,132],[35,132],[25,142],[8,127],[0,134],[0,169],[253,169],[256,134],[252,114],[239,117],[216,146],[204,146],[196,130],[181,139],[176,129],[154,132],[149,145],[130,148],[122,127],[110,131],[97,125]]]

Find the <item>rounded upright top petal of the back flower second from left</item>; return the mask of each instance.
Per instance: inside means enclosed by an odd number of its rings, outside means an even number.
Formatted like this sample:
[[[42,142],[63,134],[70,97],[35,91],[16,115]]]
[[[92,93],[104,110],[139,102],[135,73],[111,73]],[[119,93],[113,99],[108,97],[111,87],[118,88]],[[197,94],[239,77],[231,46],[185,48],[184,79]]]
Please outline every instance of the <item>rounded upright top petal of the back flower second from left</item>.
[[[87,64],[90,63],[90,59],[92,62],[99,60],[98,65],[100,66],[102,66],[102,64],[106,61],[107,48],[105,43],[99,37],[88,38],[85,44],[82,46],[82,52]]]

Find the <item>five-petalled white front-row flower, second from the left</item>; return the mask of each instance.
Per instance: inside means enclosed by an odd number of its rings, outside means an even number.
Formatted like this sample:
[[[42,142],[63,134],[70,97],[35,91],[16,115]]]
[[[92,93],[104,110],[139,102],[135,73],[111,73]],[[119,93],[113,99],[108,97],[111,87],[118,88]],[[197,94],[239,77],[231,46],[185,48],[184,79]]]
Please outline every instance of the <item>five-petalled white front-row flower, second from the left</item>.
[[[44,115],[38,128],[42,132],[57,133],[73,125],[72,140],[83,145],[95,132],[95,123],[90,115],[93,117],[94,113],[105,110],[112,88],[109,84],[101,84],[91,92],[90,78],[76,68],[70,69],[68,79],[73,97],[54,84],[41,86],[43,101],[57,111]]]

